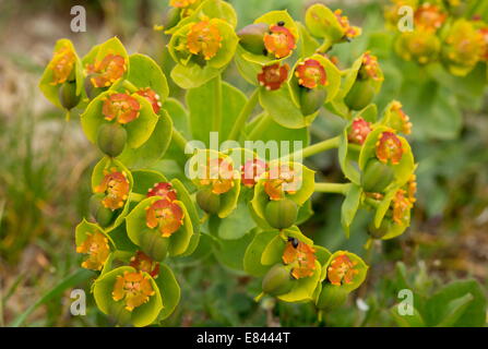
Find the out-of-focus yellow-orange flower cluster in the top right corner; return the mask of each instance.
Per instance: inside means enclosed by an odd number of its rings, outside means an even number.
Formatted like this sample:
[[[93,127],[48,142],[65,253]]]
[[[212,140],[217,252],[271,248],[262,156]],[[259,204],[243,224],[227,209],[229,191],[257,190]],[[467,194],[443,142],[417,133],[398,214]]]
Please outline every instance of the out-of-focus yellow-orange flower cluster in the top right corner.
[[[391,0],[385,10],[389,26],[396,31],[395,51],[407,61],[441,63],[453,75],[465,76],[487,60],[488,23],[473,15],[463,1]],[[476,7],[476,1],[473,1]],[[414,11],[413,31],[400,33],[398,10]]]

